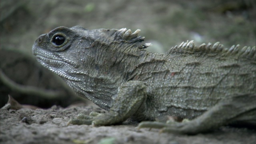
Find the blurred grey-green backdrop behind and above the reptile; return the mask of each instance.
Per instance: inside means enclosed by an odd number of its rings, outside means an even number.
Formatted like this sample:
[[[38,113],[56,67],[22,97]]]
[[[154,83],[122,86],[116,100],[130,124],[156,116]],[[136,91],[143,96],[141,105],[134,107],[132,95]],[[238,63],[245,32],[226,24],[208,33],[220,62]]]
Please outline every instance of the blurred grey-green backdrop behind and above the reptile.
[[[0,107],[8,94],[41,108],[88,101],[76,96],[32,56],[41,34],[58,26],[140,29],[140,36],[164,53],[186,40],[255,46],[255,0],[1,0]]]

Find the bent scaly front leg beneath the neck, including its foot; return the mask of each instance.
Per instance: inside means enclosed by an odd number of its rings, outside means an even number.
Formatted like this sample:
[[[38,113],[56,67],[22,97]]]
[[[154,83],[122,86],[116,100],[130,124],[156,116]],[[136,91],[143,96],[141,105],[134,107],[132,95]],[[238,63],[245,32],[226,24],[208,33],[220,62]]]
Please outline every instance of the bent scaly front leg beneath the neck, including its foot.
[[[71,124],[92,124],[94,126],[111,125],[131,117],[146,100],[146,86],[140,81],[128,81],[120,87],[118,96],[110,111],[97,116],[81,116],[70,120]]]

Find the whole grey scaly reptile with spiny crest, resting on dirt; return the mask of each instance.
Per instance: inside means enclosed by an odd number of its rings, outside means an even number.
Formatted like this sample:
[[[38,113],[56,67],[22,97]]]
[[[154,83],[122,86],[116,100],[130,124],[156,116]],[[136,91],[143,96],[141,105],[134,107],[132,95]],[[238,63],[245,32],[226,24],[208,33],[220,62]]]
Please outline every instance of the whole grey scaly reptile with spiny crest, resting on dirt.
[[[147,52],[144,37],[122,28],[55,28],[32,52],[80,96],[108,110],[71,124],[112,125],[164,116],[184,122],[141,122],[139,128],[197,134],[226,124],[256,127],[256,48],[193,41],[164,54]],[[189,120],[186,120],[189,119]]]

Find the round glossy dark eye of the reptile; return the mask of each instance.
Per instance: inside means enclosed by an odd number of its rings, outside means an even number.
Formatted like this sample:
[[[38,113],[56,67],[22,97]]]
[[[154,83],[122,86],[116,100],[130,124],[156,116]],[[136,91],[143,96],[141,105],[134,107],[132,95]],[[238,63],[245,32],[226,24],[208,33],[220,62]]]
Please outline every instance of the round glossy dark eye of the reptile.
[[[61,48],[69,42],[69,37],[61,32],[55,33],[51,38],[51,43],[55,48]]]

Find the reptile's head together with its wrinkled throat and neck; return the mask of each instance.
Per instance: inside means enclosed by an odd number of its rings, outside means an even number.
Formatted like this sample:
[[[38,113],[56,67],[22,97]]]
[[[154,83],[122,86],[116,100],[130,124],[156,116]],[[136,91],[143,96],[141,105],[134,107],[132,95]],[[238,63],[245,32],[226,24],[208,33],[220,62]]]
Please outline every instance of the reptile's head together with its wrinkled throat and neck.
[[[142,43],[144,37],[138,37],[139,32],[132,33],[126,28],[86,30],[80,26],[61,26],[39,36],[32,52],[43,66],[61,76],[76,93],[98,105],[104,103],[100,107],[108,109],[117,88],[106,94],[106,89],[111,89],[106,87],[115,87],[111,84],[117,82],[113,81],[122,79],[117,73],[110,74],[115,71],[110,70],[114,63],[122,60],[120,54],[115,53],[150,46]],[[101,98],[100,93],[108,98]],[[102,99],[104,102],[100,102]]]

